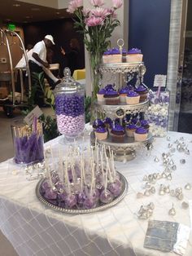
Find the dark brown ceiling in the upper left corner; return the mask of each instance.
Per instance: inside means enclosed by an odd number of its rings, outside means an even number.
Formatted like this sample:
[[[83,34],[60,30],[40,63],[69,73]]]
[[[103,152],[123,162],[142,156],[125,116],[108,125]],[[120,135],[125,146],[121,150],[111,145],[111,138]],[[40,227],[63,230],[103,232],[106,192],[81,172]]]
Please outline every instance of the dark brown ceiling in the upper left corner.
[[[18,4],[19,6],[17,6]],[[31,23],[68,17],[71,17],[71,15],[68,14],[66,9],[42,7],[37,4],[15,0],[0,0],[0,20],[3,23]]]

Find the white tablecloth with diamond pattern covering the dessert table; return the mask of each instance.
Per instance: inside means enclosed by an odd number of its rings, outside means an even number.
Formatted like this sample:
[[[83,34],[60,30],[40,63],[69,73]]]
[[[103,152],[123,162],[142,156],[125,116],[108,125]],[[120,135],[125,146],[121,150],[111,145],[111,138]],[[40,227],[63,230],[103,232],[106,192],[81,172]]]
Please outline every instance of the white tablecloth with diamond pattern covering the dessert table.
[[[141,205],[153,202],[155,210],[150,219],[172,221],[191,228],[190,209],[181,207],[182,201],[192,200],[192,189],[186,190],[185,184],[192,185],[192,157],[185,152],[172,153],[172,161],[177,170],[172,171],[172,180],[159,179],[155,183],[155,194],[137,198],[137,192],[144,192],[144,175],[163,172],[162,153],[168,152],[168,143],[177,148],[176,140],[184,141],[192,153],[192,135],[168,132],[168,138],[155,138],[151,151],[138,151],[137,157],[129,162],[116,162],[117,170],[129,182],[129,192],[117,205],[94,214],[63,214],[50,210],[37,200],[35,188],[38,180],[29,181],[24,167],[16,166],[12,159],[0,164],[0,228],[11,241],[19,255],[176,255],[160,250],[143,247],[148,219],[138,219],[137,211]],[[183,138],[181,138],[183,137]],[[60,138],[45,144],[57,151]],[[89,143],[89,138],[85,138]],[[68,150],[68,145],[63,145]],[[159,161],[155,161],[155,158]],[[181,163],[185,159],[185,164]],[[181,187],[184,199],[165,194],[159,195],[159,185],[170,188]],[[170,216],[168,210],[176,210]],[[185,250],[192,255],[192,234]]]

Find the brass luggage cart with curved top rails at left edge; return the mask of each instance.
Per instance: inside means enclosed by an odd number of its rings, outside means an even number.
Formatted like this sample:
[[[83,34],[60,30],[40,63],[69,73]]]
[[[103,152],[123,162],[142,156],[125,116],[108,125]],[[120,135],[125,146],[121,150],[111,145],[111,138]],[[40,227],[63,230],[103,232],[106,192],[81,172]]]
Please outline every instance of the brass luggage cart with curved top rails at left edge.
[[[13,68],[12,56],[11,56],[11,42],[9,41],[7,35],[10,35],[11,37],[16,36],[17,38],[19,38],[20,48],[24,52],[26,68]],[[15,108],[24,108],[28,106],[27,102],[24,102],[23,70],[26,70],[26,72],[28,73],[28,96],[29,97],[31,93],[31,75],[28,67],[28,56],[24,49],[24,42],[22,41],[22,38],[20,38],[20,35],[9,29],[0,28],[0,46],[2,45],[7,46],[7,52],[9,56],[9,62],[10,62],[10,70],[8,70],[7,72],[0,72],[0,82],[2,81],[7,82],[7,86],[9,87],[8,89],[11,91],[11,99],[10,97],[0,99],[0,106],[2,106],[4,112],[7,114],[7,117],[13,117],[13,111]],[[19,69],[18,71],[20,73],[20,87],[21,87],[20,101],[17,101],[15,97],[16,69]]]

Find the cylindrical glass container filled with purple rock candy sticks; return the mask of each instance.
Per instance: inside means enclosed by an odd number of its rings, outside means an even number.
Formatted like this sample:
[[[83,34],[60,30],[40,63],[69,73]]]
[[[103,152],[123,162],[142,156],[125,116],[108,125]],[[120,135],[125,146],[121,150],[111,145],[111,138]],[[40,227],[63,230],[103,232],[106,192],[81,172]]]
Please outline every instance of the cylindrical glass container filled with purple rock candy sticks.
[[[11,124],[11,132],[16,164],[28,165],[44,160],[43,132],[39,121],[33,122],[32,126],[22,121],[14,121]]]

